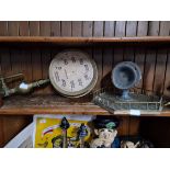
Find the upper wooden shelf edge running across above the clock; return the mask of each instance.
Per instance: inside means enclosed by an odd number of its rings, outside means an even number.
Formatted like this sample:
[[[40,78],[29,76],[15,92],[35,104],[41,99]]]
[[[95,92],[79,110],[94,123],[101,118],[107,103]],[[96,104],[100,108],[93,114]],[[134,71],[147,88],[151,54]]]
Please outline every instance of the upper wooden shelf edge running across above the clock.
[[[135,37],[57,37],[0,36],[0,43],[103,44],[103,43],[170,43],[170,36]]]

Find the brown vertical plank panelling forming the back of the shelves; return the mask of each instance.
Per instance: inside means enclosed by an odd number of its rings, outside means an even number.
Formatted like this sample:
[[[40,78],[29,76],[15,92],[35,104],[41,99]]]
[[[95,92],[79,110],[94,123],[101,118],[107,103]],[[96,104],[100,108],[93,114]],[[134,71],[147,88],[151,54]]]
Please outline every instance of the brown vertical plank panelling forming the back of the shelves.
[[[167,36],[170,22],[167,21],[13,21],[0,22],[0,36]],[[26,81],[47,78],[48,65],[60,49],[50,47],[0,48],[0,73],[3,76],[23,72]],[[122,60],[138,64],[143,80],[138,88],[155,90],[157,93],[170,95],[170,49],[146,47],[110,46],[91,47],[87,50],[95,60],[99,69],[99,81],[94,89],[111,86],[111,70]],[[16,83],[11,83],[10,87]],[[54,93],[49,86],[35,93]],[[120,135],[138,134],[140,118],[121,117]],[[32,116],[0,116],[0,146],[32,121]]]

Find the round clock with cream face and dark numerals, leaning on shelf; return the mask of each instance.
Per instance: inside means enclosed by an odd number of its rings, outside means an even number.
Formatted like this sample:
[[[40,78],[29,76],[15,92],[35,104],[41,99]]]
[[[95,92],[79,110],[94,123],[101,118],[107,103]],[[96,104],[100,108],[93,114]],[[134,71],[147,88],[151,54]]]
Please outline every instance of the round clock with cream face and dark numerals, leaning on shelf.
[[[86,53],[63,52],[50,63],[49,79],[61,94],[81,97],[90,92],[97,83],[97,65]]]

